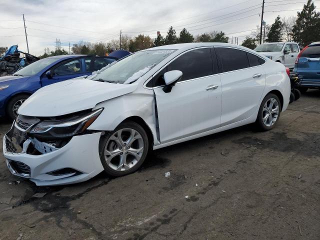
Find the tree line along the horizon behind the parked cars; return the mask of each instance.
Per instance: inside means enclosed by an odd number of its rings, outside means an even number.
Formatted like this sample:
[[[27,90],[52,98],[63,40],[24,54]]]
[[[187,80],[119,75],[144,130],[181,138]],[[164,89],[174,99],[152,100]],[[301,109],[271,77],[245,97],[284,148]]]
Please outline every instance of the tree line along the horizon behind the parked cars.
[[[305,46],[313,41],[320,40],[319,32],[320,13],[316,12],[312,0],[307,0],[307,3],[303,5],[303,9],[297,12],[297,16],[283,18],[277,16],[271,25],[265,25],[265,34],[262,35],[262,38],[264,38],[264,42],[295,41],[299,43],[300,46]],[[255,31],[245,37],[241,45],[254,49],[259,43],[259,39],[260,27],[257,26]],[[192,35],[186,28],[183,28],[179,34],[176,34],[176,30],[170,26],[165,36],[158,34],[154,39],[144,34],[139,34],[133,38],[124,35],[121,37],[121,49],[135,52],[154,46],[175,43],[228,42],[228,40],[229,37],[223,31],[211,31]],[[96,54],[102,56],[109,52],[112,46],[120,49],[120,39],[112,39],[106,43],[80,41],[73,44],[71,49],[73,54]],[[40,57],[61,54],[68,54],[68,52],[63,48],[56,49]]]

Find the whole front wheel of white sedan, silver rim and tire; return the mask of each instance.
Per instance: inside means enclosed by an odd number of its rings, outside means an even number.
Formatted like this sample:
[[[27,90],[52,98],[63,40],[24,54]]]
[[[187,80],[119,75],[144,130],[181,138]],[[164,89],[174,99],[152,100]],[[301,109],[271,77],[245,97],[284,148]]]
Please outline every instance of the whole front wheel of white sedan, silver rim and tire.
[[[100,139],[100,160],[106,173],[111,176],[134,172],[143,163],[147,151],[145,130],[133,121],[121,123]]]

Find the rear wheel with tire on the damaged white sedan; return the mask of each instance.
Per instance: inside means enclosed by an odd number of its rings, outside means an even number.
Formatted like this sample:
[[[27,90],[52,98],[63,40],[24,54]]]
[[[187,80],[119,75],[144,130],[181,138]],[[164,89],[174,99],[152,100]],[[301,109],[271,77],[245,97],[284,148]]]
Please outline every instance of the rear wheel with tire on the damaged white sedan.
[[[259,107],[256,118],[256,125],[260,130],[270,130],[280,117],[281,103],[277,95],[273,93],[267,94]]]

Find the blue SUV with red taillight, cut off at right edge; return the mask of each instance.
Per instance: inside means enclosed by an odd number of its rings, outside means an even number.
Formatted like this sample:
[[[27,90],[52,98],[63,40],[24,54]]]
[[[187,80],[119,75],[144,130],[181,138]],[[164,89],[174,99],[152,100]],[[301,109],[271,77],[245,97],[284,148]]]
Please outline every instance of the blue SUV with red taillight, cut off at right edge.
[[[320,87],[320,41],[304,47],[295,59],[294,72],[301,78],[300,91]]]

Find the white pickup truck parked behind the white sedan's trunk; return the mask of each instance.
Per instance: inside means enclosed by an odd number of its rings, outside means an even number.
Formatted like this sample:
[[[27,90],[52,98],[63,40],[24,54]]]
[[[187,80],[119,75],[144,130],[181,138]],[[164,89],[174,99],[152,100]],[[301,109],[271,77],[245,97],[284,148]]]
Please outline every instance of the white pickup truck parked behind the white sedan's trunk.
[[[294,67],[295,58],[300,52],[296,42],[268,42],[258,45],[254,50],[290,69]]]

